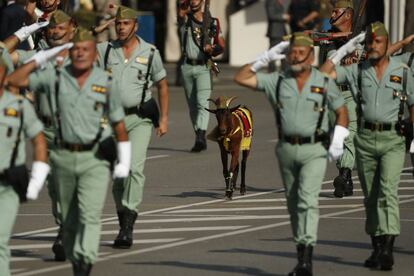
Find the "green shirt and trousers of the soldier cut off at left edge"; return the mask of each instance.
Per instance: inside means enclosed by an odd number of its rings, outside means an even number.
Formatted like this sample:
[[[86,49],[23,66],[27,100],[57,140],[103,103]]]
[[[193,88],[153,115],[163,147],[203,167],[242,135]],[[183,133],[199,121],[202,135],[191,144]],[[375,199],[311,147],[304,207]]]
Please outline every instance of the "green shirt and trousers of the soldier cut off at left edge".
[[[18,148],[16,165],[25,163],[25,139],[34,138],[43,129],[32,105],[20,96],[3,90],[0,97],[0,275],[10,275],[7,247],[19,208],[19,196],[4,176],[10,166],[13,147],[20,127],[20,114],[23,111],[22,138]]]

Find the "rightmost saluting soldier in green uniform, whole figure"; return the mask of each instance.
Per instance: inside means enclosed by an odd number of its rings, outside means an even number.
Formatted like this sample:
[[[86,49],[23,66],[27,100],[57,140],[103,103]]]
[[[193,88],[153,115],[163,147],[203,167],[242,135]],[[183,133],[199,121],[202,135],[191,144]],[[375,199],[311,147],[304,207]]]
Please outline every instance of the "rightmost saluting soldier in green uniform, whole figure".
[[[411,123],[414,119],[414,79],[406,65],[387,54],[388,32],[380,22],[371,24],[366,34],[368,60],[338,66],[364,36],[342,46],[321,70],[339,83],[347,82],[358,99],[356,163],[365,197],[365,231],[373,246],[364,265],[391,270],[394,240],[400,234],[398,184],[405,159],[402,119],[405,104],[410,106]]]

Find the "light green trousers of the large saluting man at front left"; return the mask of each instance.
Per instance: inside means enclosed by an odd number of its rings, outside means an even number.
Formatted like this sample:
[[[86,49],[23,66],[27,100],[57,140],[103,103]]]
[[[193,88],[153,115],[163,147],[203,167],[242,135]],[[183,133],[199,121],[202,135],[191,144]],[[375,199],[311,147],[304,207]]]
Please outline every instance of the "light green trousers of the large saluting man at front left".
[[[63,244],[72,262],[93,264],[110,180],[109,163],[94,151],[55,150],[50,155],[63,224]]]

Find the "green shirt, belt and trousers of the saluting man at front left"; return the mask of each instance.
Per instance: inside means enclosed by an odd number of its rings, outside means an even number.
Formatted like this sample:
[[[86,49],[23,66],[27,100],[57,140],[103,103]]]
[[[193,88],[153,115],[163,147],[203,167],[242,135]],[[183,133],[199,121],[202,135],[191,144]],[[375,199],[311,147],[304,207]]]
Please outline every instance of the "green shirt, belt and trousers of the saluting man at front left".
[[[58,98],[55,69],[32,73],[30,89],[44,91],[60,114],[60,123],[56,116],[54,119],[58,126],[56,134],[62,134],[58,135],[61,136],[58,147],[50,153],[50,163],[58,186],[66,255],[74,264],[93,264],[97,258],[100,217],[110,181],[109,162],[97,154],[96,138],[106,108],[111,123],[124,118],[120,88],[98,67],[93,67],[82,88],[71,75],[70,65],[58,71]],[[102,139],[108,134],[104,132]]]

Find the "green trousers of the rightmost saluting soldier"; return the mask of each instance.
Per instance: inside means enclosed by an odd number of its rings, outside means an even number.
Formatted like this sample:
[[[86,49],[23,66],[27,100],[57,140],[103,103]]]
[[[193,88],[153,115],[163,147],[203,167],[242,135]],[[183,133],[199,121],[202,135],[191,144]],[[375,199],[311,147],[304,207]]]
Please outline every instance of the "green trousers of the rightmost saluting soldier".
[[[365,231],[399,235],[398,185],[404,166],[404,138],[393,131],[360,130],[355,138],[358,176],[364,192]]]

